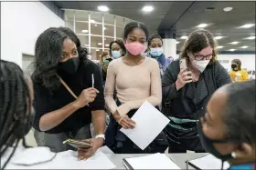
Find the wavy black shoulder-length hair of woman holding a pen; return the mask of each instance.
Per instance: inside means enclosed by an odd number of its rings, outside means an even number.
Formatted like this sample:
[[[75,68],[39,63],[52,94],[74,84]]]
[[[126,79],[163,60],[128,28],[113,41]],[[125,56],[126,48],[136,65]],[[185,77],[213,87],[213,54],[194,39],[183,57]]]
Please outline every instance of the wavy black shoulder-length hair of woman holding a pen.
[[[37,38],[35,47],[35,63],[32,79],[53,91],[60,85],[57,76],[59,59],[62,55],[63,41],[70,38],[77,46],[80,61],[88,60],[88,51],[81,47],[78,36],[67,27],[50,27]]]

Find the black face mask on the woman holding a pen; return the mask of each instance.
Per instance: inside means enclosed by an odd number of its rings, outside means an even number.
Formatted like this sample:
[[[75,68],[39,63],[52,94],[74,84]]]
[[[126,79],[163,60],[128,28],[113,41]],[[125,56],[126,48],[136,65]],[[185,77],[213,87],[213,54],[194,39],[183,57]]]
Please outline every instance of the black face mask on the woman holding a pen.
[[[63,70],[68,74],[75,74],[77,73],[80,66],[80,58],[75,57],[67,60],[64,63],[59,63],[59,70]]]

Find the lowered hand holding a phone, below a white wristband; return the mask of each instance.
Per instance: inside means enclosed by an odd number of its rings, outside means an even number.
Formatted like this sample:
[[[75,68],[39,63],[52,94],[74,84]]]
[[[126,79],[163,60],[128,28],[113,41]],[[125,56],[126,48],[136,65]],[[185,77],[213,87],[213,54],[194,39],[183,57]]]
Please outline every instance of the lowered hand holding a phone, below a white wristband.
[[[91,139],[86,139],[85,141],[91,142],[91,147],[88,149],[78,149],[78,157],[80,160],[86,160],[91,155],[93,155],[104,143],[103,138],[91,138]]]

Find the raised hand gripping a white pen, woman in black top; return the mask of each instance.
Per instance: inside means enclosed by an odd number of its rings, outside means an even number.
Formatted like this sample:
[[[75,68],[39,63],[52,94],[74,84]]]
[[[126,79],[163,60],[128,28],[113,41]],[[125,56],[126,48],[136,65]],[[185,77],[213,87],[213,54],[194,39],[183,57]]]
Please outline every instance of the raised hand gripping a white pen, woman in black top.
[[[75,104],[80,108],[84,107],[94,101],[97,93],[99,93],[99,91],[94,87],[84,89],[75,101]]]

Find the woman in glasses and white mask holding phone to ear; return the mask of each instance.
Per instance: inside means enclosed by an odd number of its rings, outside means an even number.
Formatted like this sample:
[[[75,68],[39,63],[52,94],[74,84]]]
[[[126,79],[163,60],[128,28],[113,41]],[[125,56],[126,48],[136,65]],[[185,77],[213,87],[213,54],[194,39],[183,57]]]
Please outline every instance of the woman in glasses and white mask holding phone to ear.
[[[203,29],[194,31],[179,60],[165,70],[162,109],[171,121],[166,127],[169,153],[204,152],[197,135],[197,118],[205,114],[209,97],[231,82],[216,60],[215,49],[213,35]]]

